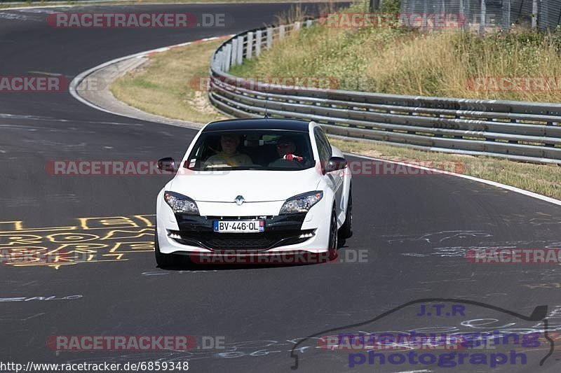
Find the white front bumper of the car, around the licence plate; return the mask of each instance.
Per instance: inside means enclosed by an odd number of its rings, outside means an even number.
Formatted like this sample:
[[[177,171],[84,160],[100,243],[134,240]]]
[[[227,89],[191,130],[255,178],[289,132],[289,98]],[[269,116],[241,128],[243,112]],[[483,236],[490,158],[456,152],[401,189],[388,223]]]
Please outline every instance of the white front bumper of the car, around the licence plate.
[[[245,203],[197,202],[201,216],[173,213],[163,200],[156,204],[161,253],[269,255],[271,253],[325,253],[329,241],[332,199],[323,198],[309,212],[278,215],[283,201]],[[234,206],[232,206],[234,205]],[[232,212],[236,211],[234,214]],[[329,211],[329,212],[327,212]],[[265,220],[264,232],[218,233],[215,220]]]

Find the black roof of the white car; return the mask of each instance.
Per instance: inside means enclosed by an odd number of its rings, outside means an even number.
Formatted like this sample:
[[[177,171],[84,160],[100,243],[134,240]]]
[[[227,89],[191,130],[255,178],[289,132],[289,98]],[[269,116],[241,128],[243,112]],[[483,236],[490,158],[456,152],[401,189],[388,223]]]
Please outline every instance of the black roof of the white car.
[[[308,132],[309,122],[293,119],[229,119],[208,123],[203,132],[228,131],[236,129],[279,129],[285,131]]]

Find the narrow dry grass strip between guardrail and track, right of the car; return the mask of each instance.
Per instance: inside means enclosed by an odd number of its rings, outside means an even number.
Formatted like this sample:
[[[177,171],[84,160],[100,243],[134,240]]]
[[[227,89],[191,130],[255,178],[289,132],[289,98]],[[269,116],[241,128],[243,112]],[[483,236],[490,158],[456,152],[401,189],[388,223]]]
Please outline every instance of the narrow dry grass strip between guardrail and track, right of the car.
[[[426,152],[367,141],[330,138],[344,152],[404,162],[461,162],[463,174],[561,199],[561,167],[550,164],[520,163],[489,157]],[[421,163],[422,164],[422,163]]]

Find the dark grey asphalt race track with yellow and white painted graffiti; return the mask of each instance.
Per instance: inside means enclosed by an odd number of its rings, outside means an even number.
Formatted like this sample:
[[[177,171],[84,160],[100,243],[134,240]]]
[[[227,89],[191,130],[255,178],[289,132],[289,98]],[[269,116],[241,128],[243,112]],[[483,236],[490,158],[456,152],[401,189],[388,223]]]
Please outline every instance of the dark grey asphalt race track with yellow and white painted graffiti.
[[[96,8],[227,13],[234,19],[228,27],[189,29],[55,29],[46,22],[53,9],[1,11],[0,75],[41,71],[72,80],[123,55],[259,27],[286,8]],[[398,360],[372,364],[365,351],[318,348],[318,336],[331,329],[338,330],[332,334],[502,330],[543,336],[546,317],[550,338],[542,337],[539,346],[482,352],[527,356],[522,362],[508,355],[495,370],[560,371],[561,346],[549,355],[552,344],[561,344],[555,339],[555,330],[561,330],[559,265],[466,260],[470,248],[561,248],[561,207],[555,204],[454,176],[356,176],[354,235],[335,263],[164,270],[154,261],[152,224],[156,193],[169,176],[46,171],[53,160],[181,157],[195,133],[96,111],[68,92],[0,92],[0,253],[17,248],[65,253],[57,262],[2,257],[1,363],[189,361],[194,372],[287,372],[297,356],[302,372],[487,372],[489,362],[468,360],[447,368]],[[363,260],[353,260],[358,254]],[[445,300],[431,303],[433,298]],[[464,311],[417,316],[420,306],[429,304],[445,304],[446,311],[462,305]],[[528,317],[541,305],[547,310]],[[48,341],[61,335],[189,335],[198,349],[55,351]],[[203,339],[213,342],[203,345]]]

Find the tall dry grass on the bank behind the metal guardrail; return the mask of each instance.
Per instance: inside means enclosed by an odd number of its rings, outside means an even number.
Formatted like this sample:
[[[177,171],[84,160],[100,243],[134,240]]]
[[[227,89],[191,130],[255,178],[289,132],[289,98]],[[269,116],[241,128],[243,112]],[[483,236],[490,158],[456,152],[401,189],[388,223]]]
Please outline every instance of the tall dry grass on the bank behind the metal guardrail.
[[[348,11],[363,11],[356,3]],[[561,101],[544,90],[473,89],[477,77],[561,77],[561,36],[513,29],[421,33],[398,28],[303,29],[232,73],[334,77],[345,90],[478,99]]]

